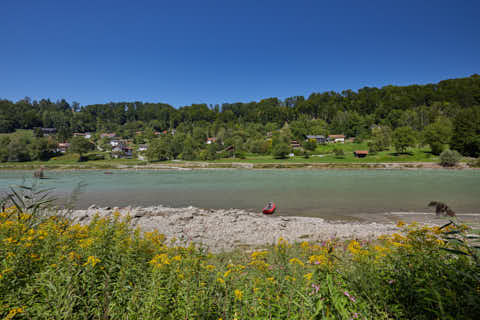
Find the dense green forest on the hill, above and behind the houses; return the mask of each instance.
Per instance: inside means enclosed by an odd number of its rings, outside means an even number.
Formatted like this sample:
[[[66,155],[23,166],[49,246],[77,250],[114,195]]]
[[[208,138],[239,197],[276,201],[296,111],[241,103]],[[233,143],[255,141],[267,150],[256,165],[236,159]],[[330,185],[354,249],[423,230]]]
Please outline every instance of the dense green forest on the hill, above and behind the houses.
[[[281,128],[288,130],[283,132],[284,137],[274,134],[274,147],[289,139],[304,141],[308,134],[344,134],[371,140],[371,151],[375,151],[391,144],[397,132],[397,138],[414,136],[405,142],[406,147],[425,143],[438,153],[449,145],[463,155],[477,157],[480,76],[427,85],[365,87],[358,92],[312,93],[308,98],[267,98],[221,106],[192,104],[178,109],[147,102],[81,106],[63,99],[0,100],[0,133],[39,127],[56,128],[59,142],[69,141],[74,132],[115,132],[144,143],[152,142],[155,132],[175,129],[175,136],[156,141],[160,149],[161,145],[177,144],[166,152],[167,158],[180,154],[193,157],[198,150],[208,149],[204,145],[207,137],[216,137],[217,145],[235,145],[237,150],[270,152],[272,145],[265,143],[265,136]],[[9,142],[3,141],[3,145]],[[405,151],[404,147],[398,150]]]

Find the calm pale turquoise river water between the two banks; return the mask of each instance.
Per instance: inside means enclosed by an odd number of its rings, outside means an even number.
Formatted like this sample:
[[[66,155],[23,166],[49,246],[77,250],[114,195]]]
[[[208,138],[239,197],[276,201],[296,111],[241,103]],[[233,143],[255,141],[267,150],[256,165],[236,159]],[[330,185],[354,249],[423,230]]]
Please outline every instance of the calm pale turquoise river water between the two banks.
[[[45,187],[65,197],[86,183],[77,206],[148,206],[258,210],[268,200],[284,215],[348,217],[429,210],[439,200],[480,212],[480,170],[128,170],[46,172]],[[31,171],[0,171],[0,191],[31,182]],[[25,180],[26,179],[26,180]]]

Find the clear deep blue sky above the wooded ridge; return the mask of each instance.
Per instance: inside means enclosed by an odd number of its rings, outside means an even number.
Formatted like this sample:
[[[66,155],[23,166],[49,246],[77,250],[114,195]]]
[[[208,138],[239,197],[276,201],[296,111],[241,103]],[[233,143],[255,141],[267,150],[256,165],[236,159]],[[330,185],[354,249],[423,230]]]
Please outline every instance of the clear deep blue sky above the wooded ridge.
[[[480,73],[480,1],[1,0],[0,98],[247,102]]]

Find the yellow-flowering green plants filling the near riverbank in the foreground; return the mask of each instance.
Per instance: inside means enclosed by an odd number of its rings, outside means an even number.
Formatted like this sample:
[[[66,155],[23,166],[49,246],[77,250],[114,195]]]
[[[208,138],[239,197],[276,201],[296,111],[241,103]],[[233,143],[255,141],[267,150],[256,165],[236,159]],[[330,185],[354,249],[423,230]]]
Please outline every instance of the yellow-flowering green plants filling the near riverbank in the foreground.
[[[0,317],[474,319],[479,265],[466,231],[411,225],[370,243],[279,239],[210,254],[119,215],[81,226],[10,208],[0,214]]]

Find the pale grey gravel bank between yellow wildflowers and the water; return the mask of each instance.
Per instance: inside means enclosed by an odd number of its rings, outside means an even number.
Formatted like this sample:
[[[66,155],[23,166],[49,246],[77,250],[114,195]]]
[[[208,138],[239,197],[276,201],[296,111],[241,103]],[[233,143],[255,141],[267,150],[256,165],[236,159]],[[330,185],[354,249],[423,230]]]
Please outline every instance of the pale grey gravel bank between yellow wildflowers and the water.
[[[275,243],[280,237],[291,241],[323,241],[336,239],[374,239],[398,231],[393,223],[332,222],[322,218],[267,216],[242,209],[169,208],[164,206],[98,208],[75,210],[70,217],[81,224],[95,215],[132,217],[131,224],[143,231],[158,230],[167,239],[183,244],[194,242],[213,252],[234,248],[261,247]]]

